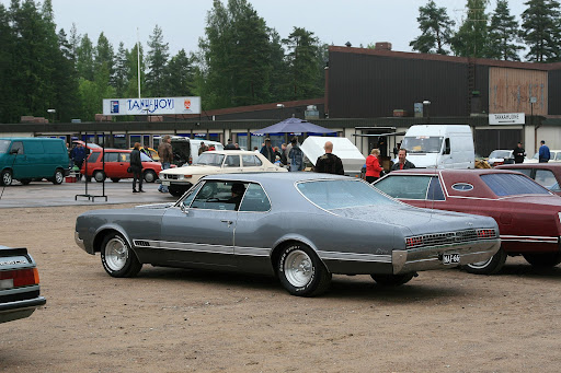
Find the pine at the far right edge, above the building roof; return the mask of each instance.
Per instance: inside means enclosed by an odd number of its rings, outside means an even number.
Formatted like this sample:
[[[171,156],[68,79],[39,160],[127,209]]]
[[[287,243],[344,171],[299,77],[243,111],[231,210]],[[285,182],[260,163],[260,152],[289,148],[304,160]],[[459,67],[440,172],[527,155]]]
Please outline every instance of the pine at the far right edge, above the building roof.
[[[528,7],[522,14],[522,38],[529,47],[526,58],[534,62],[560,60],[559,2],[556,0],[528,0],[524,4]]]

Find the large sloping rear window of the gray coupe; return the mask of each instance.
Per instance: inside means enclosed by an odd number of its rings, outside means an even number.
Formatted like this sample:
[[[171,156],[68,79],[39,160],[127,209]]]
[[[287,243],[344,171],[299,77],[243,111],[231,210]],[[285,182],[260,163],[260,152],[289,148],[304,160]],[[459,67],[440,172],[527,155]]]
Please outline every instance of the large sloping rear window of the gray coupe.
[[[360,180],[302,182],[297,187],[312,203],[325,210],[398,203]]]

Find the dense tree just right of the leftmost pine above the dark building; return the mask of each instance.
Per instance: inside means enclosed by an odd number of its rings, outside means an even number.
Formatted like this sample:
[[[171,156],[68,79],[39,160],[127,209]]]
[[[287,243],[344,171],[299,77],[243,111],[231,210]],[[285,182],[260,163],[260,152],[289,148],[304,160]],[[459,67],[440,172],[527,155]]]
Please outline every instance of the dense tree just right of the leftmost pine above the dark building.
[[[451,38],[451,49],[456,56],[486,57],[488,21],[485,5],[489,0],[468,0],[468,16]]]

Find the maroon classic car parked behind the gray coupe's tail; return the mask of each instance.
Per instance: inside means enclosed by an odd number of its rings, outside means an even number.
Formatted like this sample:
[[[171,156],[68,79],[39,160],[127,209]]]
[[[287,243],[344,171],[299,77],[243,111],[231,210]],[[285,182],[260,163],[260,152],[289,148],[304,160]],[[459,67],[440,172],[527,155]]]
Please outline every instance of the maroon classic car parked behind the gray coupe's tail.
[[[374,186],[416,207],[494,218],[501,249],[465,266],[471,273],[497,272],[507,255],[523,255],[540,267],[561,263],[561,198],[517,172],[416,168],[392,172]]]

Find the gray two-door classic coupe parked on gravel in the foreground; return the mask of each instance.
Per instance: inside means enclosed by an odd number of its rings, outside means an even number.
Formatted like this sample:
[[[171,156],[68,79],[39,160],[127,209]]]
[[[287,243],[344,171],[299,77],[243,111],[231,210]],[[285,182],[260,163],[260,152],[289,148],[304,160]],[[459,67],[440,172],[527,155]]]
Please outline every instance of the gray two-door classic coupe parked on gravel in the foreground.
[[[492,218],[410,207],[358,178],[314,173],[207,176],[175,203],[85,212],[76,242],[113,277],[142,264],[265,273],[302,296],[324,292],[332,273],[396,285],[500,247]]]

